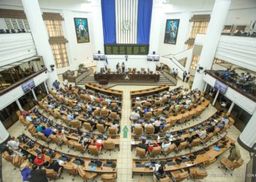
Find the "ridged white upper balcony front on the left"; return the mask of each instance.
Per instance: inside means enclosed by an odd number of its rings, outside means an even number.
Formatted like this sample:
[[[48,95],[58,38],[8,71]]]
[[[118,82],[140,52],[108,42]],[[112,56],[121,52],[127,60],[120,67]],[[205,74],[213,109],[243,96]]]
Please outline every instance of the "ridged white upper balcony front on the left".
[[[37,55],[31,33],[0,34],[0,66]]]

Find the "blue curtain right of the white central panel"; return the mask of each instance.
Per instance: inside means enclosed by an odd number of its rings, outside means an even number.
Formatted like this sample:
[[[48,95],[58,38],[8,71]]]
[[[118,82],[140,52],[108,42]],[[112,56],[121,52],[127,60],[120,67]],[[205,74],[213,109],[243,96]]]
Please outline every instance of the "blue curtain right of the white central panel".
[[[138,2],[138,44],[149,44],[153,0]]]

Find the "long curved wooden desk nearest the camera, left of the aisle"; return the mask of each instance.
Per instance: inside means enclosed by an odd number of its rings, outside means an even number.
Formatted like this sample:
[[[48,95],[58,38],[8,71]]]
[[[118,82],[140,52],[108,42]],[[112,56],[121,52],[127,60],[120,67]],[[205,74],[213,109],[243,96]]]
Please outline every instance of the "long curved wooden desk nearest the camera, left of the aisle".
[[[29,138],[29,136],[26,136],[26,140],[31,140],[31,138]],[[29,152],[29,154],[33,155],[34,157],[37,157],[37,152],[35,152],[34,150],[39,150],[42,151],[41,149],[39,149],[39,146],[42,146],[40,143],[35,143],[34,147],[32,149],[24,149],[24,146],[27,146],[26,143],[20,143],[20,148]],[[46,146],[44,146],[44,150],[46,149],[50,149]],[[64,154],[62,151],[58,151],[58,150],[53,150],[55,151],[55,157],[53,159],[59,159],[59,157],[61,157],[61,154]],[[72,162],[75,160],[76,155],[72,155],[72,154],[66,154],[67,156],[69,156],[71,158],[71,160],[69,162]],[[89,158],[89,157],[80,157],[81,159],[83,159],[84,166],[83,166],[83,170],[89,171],[89,172],[95,172],[95,173],[116,173],[117,172],[117,167],[116,168],[112,168],[112,167],[103,167],[103,164],[107,162],[108,159],[99,159],[99,161],[102,162],[102,166],[101,167],[96,167],[96,169],[94,171],[91,171],[91,167],[89,166],[89,163],[91,162],[91,159],[93,158]],[[48,155],[45,154],[45,160],[50,162],[50,157]],[[116,163],[116,159],[110,159],[111,161]],[[75,165],[75,164],[74,164]]]

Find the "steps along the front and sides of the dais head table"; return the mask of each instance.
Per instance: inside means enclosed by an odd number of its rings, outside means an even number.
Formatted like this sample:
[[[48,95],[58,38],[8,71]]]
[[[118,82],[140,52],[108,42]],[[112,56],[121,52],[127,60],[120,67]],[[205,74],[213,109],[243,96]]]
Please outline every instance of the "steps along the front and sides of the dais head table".
[[[78,85],[83,86],[86,83],[93,83],[93,84],[99,84],[94,80],[94,74],[91,74],[89,76],[86,76],[86,78],[82,79]],[[116,81],[116,82],[108,82],[107,85],[104,85],[107,88],[114,87],[116,85],[153,85],[153,86],[159,86],[163,84],[168,84],[170,86],[173,86],[173,82],[170,82],[169,79],[167,79],[162,73],[160,74],[159,82],[146,82],[146,81],[138,81],[138,82],[129,82],[129,81]]]

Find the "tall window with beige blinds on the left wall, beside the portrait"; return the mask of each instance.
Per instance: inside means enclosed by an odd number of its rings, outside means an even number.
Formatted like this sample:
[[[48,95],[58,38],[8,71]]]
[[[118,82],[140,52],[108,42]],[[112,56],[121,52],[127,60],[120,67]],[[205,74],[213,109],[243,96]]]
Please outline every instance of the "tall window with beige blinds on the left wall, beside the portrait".
[[[56,68],[63,68],[69,66],[69,59],[67,56],[67,39],[64,37],[61,21],[64,18],[59,13],[44,12],[43,20],[48,31],[49,43],[53,51]]]

